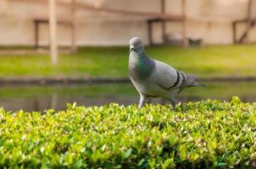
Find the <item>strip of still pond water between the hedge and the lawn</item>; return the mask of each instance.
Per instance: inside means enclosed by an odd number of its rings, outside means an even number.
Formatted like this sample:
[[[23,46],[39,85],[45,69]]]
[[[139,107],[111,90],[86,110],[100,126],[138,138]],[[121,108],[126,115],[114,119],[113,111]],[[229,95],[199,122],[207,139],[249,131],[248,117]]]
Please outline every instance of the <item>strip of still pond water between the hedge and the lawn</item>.
[[[219,99],[230,101],[237,95],[245,102],[256,101],[256,82],[207,82],[205,87],[181,92],[177,101]],[[0,106],[8,111],[65,110],[68,102],[79,106],[101,106],[111,102],[120,105],[137,104],[139,95],[131,83],[102,85],[19,85],[0,87]],[[153,104],[164,103],[152,99]],[[165,104],[165,103],[164,103]]]

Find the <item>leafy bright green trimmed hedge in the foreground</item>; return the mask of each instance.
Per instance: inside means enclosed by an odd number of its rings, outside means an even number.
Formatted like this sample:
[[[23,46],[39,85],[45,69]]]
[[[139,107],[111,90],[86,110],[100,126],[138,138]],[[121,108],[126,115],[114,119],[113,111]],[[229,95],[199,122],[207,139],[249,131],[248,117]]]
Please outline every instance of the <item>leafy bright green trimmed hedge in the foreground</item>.
[[[0,109],[0,167],[256,167],[256,103]]]

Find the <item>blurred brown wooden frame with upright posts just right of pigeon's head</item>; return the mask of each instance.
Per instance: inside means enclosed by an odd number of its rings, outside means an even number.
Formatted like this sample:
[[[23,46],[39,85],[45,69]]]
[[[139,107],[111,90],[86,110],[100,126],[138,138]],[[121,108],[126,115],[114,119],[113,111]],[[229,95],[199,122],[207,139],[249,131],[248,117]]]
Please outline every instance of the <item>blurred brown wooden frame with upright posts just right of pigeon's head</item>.
[[[166,22],[180,22],[182,25],[182,46],[187,46],[186,41],[186,1],[181,0],[181,7],[182,7],[182,14],[175,16],[175,15],[164,15],[165,14],[165,0],[161,0],[161,14],[163,16],[157,16],[153,19],[147,19],[147,29],[148,29],[148,40],[149,45],[153,46],[155,43],[153,42],[153,24],[154,23],[161,23],[162,26],[162,41],[163,44],[169,44],[169,40],[166,36]]]

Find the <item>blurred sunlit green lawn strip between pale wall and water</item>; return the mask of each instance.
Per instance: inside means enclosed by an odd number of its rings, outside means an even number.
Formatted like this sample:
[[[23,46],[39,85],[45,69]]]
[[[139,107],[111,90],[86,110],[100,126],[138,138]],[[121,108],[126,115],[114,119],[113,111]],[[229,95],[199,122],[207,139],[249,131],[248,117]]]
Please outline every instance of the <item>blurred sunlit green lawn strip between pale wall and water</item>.
[[[256,76],[256,45],[146,47],[147,54],[198,77]],[[129,48],[81,47],[52,66],[47,55],[0,56],[0,77],[128,77]]]

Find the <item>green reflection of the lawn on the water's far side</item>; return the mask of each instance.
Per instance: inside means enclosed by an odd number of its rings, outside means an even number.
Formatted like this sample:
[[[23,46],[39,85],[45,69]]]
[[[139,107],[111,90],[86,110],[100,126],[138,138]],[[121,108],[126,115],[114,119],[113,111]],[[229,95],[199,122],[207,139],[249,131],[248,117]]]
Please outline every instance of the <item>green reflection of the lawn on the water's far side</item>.
[[[255,96],[256,82],[205,82],[205,87],[183,90],[178,96],[193,96],[212,99],[230,99],[232,95],[240,97]],[[2,86],[0,98],[21,98],[38,95],[79,95],[79,96],[114,96],[137,95],[136,89],[129,84],[102,85],[57,85],[57,86]]]

